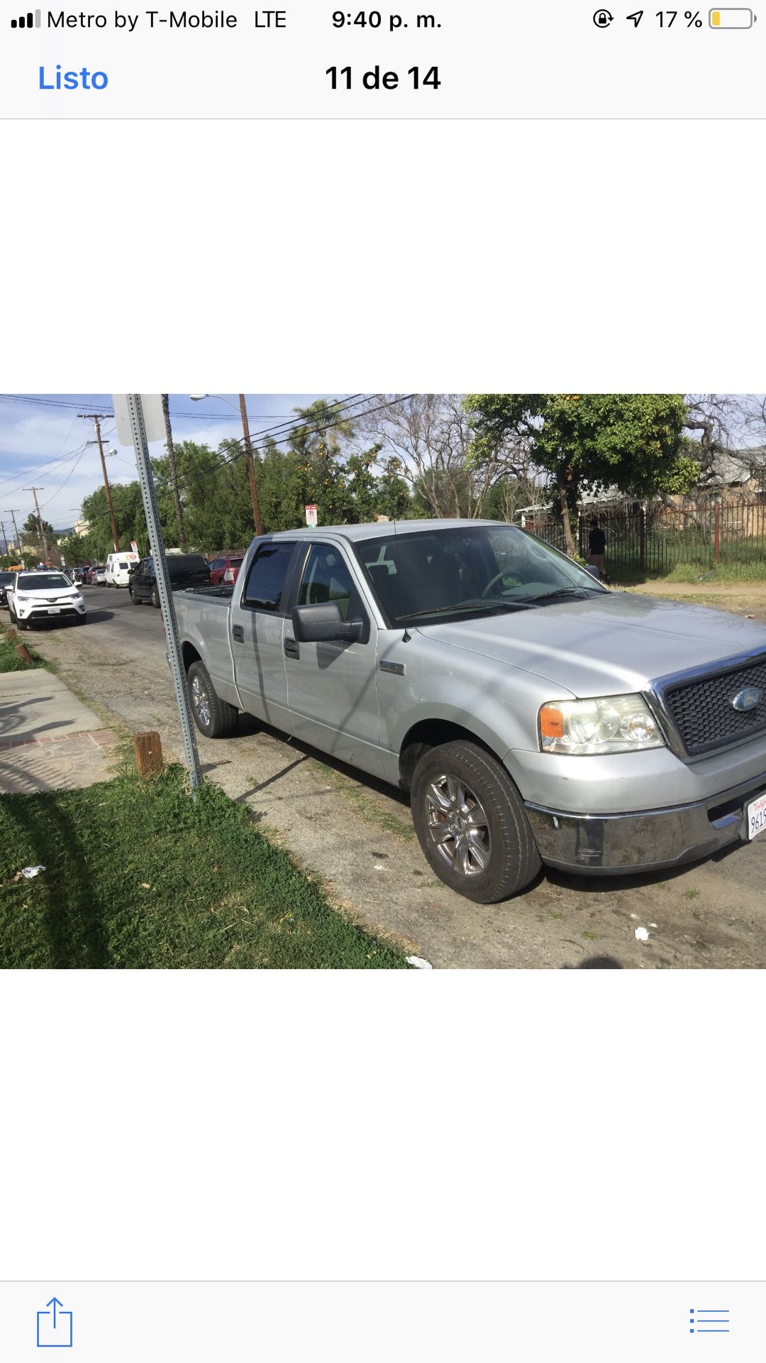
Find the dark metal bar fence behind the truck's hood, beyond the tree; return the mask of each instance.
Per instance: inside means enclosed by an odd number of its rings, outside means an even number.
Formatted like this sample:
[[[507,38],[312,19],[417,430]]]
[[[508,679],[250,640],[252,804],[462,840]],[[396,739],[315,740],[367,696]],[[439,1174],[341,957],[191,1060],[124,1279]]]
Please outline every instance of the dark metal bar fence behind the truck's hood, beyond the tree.
[[[587,557],[587,537],[596,518],[607,537],[611,577],[671,572],[676,564],[698,567],[766,562],[766,499],[705,500],[683,506],[624,506],[593,508],[579,515],[577,545]],[[562,522],[553,515],[526,519],[526,529],[564,548]]]

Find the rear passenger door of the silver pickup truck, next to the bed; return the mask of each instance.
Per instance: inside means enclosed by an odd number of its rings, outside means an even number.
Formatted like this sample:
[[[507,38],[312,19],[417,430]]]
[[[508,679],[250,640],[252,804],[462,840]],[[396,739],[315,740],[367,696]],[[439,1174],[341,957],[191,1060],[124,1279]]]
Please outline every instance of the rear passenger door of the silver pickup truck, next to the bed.
[[[232,602],[229,628],[234,682],[248,714],[293,732],[288,710],[288,679],[282,652],[282,631],[288,570],[297,540],[266,540],[256,551]]]

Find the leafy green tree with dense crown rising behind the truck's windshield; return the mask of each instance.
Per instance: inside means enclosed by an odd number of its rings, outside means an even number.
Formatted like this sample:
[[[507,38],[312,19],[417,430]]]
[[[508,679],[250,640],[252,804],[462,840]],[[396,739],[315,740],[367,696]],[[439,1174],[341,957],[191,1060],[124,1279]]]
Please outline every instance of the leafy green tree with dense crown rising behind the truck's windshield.
[[[474,421],[477,466],[496,459],[508,436],[529,442],[532,462],[548,474],[570,555],[571,517],[583,492],[683,493],[699,473],[677,393],[484,393],[470,394],[465,406]]]

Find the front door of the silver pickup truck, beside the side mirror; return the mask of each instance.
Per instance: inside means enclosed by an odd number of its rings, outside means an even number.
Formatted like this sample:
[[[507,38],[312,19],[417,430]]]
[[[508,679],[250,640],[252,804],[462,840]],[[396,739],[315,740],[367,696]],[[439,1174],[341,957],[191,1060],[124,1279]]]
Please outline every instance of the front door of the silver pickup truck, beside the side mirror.
[[[290,622],[285,623],[288,703],[294,735],[342,762],[382,776],[375,677],[378,627],[343,551],[312,538],[296,604],[311,607],[323,601],[335,601],[345,620],[363,619],[365,628],[353,643],[298,643]]]

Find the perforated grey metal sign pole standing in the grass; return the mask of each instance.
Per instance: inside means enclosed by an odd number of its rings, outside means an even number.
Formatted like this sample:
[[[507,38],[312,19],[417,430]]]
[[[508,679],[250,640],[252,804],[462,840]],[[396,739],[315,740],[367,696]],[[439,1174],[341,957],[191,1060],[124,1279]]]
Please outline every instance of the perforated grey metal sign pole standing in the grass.
[[[202,770],[199,766],[199,752],[196,750],[196,737],[192,725],[189,698],[187,694],[187,679],[181,660],[181,650],[179,647],[179,626],[176,622],[173,593],[170,590],[168,560],[165,559],[165,545],[162,544],[162,534],[159,530],[159,512],[157,510],[157,497],[154,495],[154,477],[151,474],[151,463],[149,459],[149,443],[146,439],[140,394],[127,393],[125,399],[128,405],[134,448],[136,451],[138,480],[143,499],[143,510],[146,512],[149,547],[151,549],[154,572],[157,577],[157,593],[159,596],[162,619],[168,634],[168,662],[170,665],[170,676],[176,691],[176,705],[179,706],[179,718],[181,721],[181,733],[184,736],[184,751],[187,755],[187,766],[189,769],[189,784],[192,795],[196,795],[198,786],[202,784]]]

